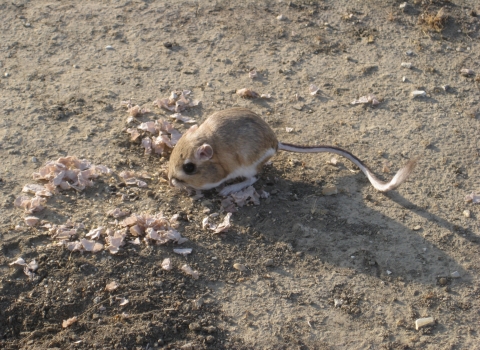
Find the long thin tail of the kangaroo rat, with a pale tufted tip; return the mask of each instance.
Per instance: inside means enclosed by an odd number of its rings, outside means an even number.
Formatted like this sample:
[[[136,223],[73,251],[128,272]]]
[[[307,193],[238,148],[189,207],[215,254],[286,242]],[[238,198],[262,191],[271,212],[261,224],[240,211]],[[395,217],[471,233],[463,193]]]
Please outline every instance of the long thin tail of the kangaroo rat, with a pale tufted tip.
[[[287,152],[300,152],[300,153],[321,153],[321,152],[329,152],[335,153],[342,157],[347,158],[351,162],[353,162],[356,166],[360,168],[360,170],[368,177],[370,183],[372,184],[375,189],[380,192],[387,192],[393,190],[400,186],[407,177],[412,173],[415,165],[417,165],[417,158],[410,159],[408,163],[401,168],[395,176],[389,182],[383,182],[379,180],[375,174],[357,157],[355,157],[350,152],[335,147],[335,146],[326,146],[326,145],[319,145],[319,146],[298,146],[298,145],[291,145],[288,143],[278,143],[278,149]]]

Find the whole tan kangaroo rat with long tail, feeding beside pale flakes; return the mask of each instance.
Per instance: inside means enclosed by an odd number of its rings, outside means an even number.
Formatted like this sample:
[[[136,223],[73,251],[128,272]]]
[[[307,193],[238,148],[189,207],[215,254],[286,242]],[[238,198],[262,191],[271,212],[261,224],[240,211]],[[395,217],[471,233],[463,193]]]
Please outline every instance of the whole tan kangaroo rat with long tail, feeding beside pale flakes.
[[[245,180],[224,187],[226,196],[257,181],[262,166],[278,151],[341,155],[368,177],[377,190],[386,192],[398,187],[413,171],[416,160],[410,160],[389,182],[380,181],[370,169],[348,151],[335,146],[296,146],[277,140],[273,130],[254,112],[231,108],[212,114],[205,122],[185,132],[170,156],[168,179],[172,186],[196,190],[215,188],[236,178]]]

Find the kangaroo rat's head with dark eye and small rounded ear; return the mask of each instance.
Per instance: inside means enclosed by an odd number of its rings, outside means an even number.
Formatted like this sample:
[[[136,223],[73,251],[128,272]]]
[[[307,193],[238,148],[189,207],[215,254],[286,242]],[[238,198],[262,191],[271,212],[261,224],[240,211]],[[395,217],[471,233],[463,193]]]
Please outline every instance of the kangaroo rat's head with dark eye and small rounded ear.
[[[227,176],[219,165],[213,145],[197,134],[194,125],[178,140],[170,155],[168,180],[175,187],[208,190]]]

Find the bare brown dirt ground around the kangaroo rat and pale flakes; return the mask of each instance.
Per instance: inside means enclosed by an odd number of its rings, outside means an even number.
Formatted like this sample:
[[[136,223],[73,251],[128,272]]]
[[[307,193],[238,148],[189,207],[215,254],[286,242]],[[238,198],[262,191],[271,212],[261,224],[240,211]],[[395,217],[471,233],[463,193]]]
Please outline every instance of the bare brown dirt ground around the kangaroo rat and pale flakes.
[[[480,349],[480,205],[465,201],[480,191],[480,6],[402,3],[2,2],[0,348]],[[242,99],[245,87],[271,98]],[[202,219],[223,218],[222,198],[170,188],[168,159],[125,132],[121,101],[150,109],[141,121],[168,119],[152,102],[173,90],[201,101],[183,112],[198,122],[248,107],[280,140],[346,148],[383,178],[421,158],[381,194],[347,160],[280,153],[254,185],[271,196],[215,234]],[[380,103],[351,104],[368,94]],[[55,194],[34,213],[42,225],[83,223],[78,239],[114,225],[116,207],[179,214],[192,254],[174,243],[71,252],[26,226],[15,198],[67,155],[114,174]],[[122,186],[122,170],[147,172],[148,187]],[[36,260],[34,278],[9,265],[18,257]],[[434,322],[416,330],[423,317]]]

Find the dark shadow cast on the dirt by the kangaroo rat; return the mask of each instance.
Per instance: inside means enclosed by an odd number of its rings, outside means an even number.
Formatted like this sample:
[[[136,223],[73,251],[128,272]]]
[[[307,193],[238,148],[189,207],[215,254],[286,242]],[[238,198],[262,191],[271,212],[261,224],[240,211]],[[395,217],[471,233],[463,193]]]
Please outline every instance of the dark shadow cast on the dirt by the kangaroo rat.
[[[321,186],[281,178],[277,172],[267,170],[255,185],[275,194],[268,203],[241,208],[234,214],[236,225],[360,274],[425,285],[437,284],[440,277],[451,281],[454,271],[462,282],[470,279],[448,251],[460,234],[478,244],[476,236],[411,203],[401,188],[386,195],[373,189],[372,195],[362,195],[362,186],[370,184],[360,173],[339,177],[343,193],[324,196]],[[276,177],[276,183],[267,177]]]

